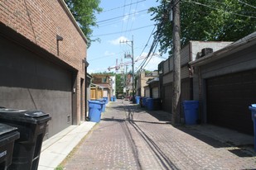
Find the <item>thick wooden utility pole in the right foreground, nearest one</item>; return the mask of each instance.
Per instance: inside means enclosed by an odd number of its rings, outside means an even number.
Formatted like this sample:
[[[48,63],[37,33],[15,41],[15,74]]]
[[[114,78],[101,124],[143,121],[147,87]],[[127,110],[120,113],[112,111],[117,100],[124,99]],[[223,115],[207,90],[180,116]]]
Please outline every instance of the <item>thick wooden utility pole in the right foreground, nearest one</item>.
[[[181,99],[181,16],[180,0],[173,0],[173,96],[171,124],[180,123],[180,99]]]

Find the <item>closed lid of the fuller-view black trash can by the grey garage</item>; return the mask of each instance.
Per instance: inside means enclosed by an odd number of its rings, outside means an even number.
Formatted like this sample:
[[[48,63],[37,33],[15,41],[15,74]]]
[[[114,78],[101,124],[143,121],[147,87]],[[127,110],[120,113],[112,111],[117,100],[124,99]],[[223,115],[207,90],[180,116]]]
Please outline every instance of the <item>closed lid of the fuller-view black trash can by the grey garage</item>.
[[[32,124],[38,124],[51,120],[48,113],[42,111],[27,111],[17,109],[0,109],[0,119],[16,120]]]

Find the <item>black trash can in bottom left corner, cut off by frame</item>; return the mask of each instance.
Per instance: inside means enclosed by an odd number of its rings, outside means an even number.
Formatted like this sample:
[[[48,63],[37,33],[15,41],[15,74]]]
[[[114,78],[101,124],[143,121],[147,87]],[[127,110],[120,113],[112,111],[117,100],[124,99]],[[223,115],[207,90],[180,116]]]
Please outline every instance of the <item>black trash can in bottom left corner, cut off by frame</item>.
[[[0,123],[0,169],[7,169],[12,163],[14,140],[20,137],[16,127]]]

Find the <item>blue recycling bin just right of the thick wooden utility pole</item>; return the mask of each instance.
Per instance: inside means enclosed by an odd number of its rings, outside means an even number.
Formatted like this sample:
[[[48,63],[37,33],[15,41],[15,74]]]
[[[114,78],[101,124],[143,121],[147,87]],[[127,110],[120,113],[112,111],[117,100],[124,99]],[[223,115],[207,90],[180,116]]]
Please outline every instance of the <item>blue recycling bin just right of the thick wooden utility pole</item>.
[[[186,125],[196,125],[198,120],[199,101],[183,101],[183,110]]]

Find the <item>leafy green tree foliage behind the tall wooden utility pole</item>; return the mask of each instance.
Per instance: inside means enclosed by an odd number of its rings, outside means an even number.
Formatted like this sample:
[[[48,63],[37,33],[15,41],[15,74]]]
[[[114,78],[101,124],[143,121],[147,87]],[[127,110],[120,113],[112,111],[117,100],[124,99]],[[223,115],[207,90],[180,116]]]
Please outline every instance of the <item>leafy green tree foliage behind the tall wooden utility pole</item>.
[[[180,7],[181,46],[190,40],[234,41],[256,31],[255,0],[182,0]],[[170,9],[170,3],[164,0],[149,10],[152,20],[157,21],[154,35],[164,53],[172,49]]]

